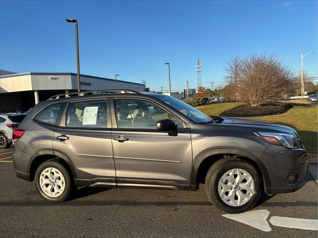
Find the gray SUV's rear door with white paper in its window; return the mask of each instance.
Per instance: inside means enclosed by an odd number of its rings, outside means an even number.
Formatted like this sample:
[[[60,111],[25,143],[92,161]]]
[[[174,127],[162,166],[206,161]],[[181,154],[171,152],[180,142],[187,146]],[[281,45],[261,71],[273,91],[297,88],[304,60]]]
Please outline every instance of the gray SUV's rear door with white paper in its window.
[[[72,161],[84,185],[116,186],[109,118],[106,99],[71,102],[54,133],[54,153]]]

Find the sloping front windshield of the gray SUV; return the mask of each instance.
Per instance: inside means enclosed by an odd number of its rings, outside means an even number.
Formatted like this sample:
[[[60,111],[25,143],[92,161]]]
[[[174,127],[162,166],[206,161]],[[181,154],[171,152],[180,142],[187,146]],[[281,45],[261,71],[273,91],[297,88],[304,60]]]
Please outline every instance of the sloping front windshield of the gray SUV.
[[[162,94],[152,94],[152,96],[170,105],[172,108],[178,110],[180,113],[194,120],[195,122],[208,122],[212,120],[212,118],[209,116],[178,99]]]

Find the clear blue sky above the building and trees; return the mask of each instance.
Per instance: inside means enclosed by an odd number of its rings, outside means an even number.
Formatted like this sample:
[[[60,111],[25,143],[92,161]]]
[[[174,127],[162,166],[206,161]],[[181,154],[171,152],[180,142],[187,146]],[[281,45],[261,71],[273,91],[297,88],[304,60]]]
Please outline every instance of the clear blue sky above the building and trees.
[[[13,72],[77,72],[141,83],[151,90],[225,84],[234,57],[274,54],[318,77],[317,0],[0,0],[0,68]]]

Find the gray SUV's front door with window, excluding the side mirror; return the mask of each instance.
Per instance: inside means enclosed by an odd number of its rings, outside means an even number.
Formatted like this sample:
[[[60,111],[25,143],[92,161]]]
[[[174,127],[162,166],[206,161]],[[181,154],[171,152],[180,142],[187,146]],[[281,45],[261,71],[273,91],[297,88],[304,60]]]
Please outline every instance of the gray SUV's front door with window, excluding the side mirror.
[[[118,187],[190,188],[192,147],[185,123],[144,99],[114,98],[111,113]],[[177,136],[158,131],[161,119],[177,124]]]

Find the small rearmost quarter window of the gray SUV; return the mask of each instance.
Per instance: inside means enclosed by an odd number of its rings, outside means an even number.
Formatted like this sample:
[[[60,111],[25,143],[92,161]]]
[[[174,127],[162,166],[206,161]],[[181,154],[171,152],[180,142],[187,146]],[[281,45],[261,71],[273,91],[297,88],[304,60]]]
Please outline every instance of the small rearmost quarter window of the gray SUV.
[[[55,103],[43,109],[35,116],[35,120],[51,124],[58,125],[64,110],[65,103]]]

